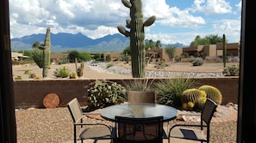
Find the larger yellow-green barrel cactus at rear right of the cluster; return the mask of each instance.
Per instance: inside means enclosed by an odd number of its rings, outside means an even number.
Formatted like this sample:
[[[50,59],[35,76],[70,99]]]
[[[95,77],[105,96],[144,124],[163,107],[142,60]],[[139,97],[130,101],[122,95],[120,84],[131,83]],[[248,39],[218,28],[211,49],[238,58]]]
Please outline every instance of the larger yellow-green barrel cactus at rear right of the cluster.
[[[222,104],[222,92],[215,86],[203,85],[198,88],[206,93],[206,97],[215,101],[216,104]]]

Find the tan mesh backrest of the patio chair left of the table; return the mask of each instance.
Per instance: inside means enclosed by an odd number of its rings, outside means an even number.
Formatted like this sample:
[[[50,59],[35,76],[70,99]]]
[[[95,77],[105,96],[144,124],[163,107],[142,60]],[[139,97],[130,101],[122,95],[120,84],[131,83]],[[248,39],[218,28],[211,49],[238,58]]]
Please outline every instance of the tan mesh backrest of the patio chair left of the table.
[[[78,102],[78,98],[73,98],[68,104],[67,108],[72,115],[73,122],[80,122],[83,117],[83,111],[80,108],[80,104]]]

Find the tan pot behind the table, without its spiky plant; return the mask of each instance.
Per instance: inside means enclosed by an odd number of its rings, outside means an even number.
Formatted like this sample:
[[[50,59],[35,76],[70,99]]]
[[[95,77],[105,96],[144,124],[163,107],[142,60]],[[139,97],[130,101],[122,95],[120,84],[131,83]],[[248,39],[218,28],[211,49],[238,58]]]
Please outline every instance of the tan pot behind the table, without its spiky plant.
[[[155,103],[155,92],[128,91],[129,103]]]

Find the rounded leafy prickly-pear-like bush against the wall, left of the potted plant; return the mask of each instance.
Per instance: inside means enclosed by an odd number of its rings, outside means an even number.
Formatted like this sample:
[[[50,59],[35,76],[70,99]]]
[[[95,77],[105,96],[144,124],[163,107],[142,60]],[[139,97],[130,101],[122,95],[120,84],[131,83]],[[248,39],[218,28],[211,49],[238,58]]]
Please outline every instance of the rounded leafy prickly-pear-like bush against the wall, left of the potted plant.
[[[116,82],[96,80],[90,84],[88,92],[88,108],[97,110],[113,104],[121,104],[128,100],[126,88]]]

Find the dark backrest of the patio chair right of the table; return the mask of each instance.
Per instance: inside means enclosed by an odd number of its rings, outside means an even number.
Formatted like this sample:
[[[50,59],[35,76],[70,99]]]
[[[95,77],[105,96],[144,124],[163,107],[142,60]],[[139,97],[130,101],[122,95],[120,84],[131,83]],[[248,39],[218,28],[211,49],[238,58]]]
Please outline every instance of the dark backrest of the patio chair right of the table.
[[[203,106],[203,110],[201,112],[201,121],[205,122],[206,124],[209,124],[209,122],[212,119],[212,116],[215,113],[216,108],[217,104],[210,98],[207,98]]]

